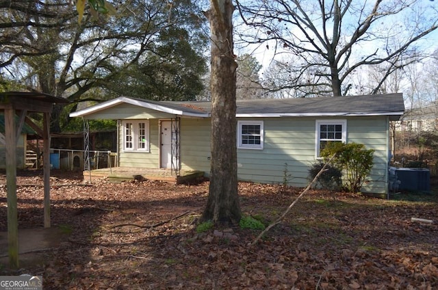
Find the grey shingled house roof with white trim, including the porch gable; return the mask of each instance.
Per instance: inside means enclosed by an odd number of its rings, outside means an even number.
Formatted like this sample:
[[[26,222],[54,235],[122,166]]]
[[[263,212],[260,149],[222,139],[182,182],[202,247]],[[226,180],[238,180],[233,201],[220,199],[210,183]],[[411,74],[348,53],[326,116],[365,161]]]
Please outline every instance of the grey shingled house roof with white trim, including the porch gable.
[[[81,109],[71,117],[87,116],[97,111],[129,103],[177,116],[207,118],[211,113],[210,101],[149,101],[120,96],[114,100]],[[319,98],[261,98],[237,100],[237,117],[287,116],[390,116],[398,120],[404,112],[402,94],[363,96],[332,96]]]

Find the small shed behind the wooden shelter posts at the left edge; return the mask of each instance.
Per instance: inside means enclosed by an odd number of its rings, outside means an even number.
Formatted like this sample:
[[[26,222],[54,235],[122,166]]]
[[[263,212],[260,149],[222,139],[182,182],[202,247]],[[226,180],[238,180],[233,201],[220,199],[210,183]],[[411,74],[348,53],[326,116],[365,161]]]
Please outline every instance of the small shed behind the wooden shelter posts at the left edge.
[[[18,116],[15,118],[18,122]],[[0,113],[0,133],[5,134],[5,116]],[[35,131],[31,129],[28,124],[23,124],[21,133],[18,135],[16,142],[16,168],[24,169],[26,166],[26,152],[27,152],[27,135],[36,135]],[[0,137],[0,168],[6,168],[6,142],[4,138]]]

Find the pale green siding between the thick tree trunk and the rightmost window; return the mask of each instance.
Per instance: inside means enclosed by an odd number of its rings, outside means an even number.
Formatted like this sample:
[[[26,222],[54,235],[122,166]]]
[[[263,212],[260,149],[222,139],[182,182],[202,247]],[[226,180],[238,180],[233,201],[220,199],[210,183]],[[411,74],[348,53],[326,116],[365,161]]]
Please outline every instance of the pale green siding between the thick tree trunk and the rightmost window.
[[[237,149],[240,180],[305,186],[307,170],[315,160],[315,119],[259,118],[263,120],[263,150]]]

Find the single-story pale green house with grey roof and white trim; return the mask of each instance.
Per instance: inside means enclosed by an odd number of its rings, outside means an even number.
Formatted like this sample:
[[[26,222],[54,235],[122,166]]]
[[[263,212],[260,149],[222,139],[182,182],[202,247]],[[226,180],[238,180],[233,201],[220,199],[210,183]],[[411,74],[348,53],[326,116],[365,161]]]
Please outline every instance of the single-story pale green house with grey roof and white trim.
[[[209,176],[209,101],[148,101],[120,96],[70,116],[118,120],[118,166],[201,170]],[[237,100],[240,181],[304,187],[327,141],[372,148],[374,168],[363,192],[386,194],[389,122],[404,112],[402,94]]]

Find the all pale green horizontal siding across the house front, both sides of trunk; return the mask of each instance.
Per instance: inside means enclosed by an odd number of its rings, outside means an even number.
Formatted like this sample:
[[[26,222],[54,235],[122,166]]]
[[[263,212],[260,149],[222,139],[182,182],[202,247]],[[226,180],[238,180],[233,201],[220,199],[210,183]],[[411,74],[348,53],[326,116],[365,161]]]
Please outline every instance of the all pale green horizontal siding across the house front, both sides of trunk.
[[[107,110],[105,110],[107,111]],[[115,112],[114,112],[115,114]],[[120,112],[118,112],[120,114]],[[149,113],[148,113],[149,114]],[[105,114],[105,116],[107,116]],[[141,115],[143,116],[143,115]],[[148,115],[149,116],[149,115]],[[105,117],[107,118],[107,117]],[[132,118],[131,118],[132,119]],[[389,120],[385,116],[318,118],[347,120],[347,142],[365,144],[374,153],[374,168],[364,192],[387,192]],[[240,118],[263,121],[263,149],[237,149],[237,174],[241,181],[283,183],[305,187],[308,170],[315,159],[316,118]],[[201,170],[209,176],[211,119],[181,118],[180,155],[182,170]],[[159,120],[149,119],[150,152],[123,152],[123,131],[119,128],[120,166],[159,168]]]

